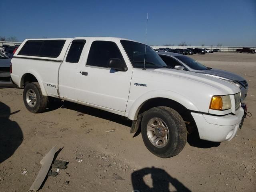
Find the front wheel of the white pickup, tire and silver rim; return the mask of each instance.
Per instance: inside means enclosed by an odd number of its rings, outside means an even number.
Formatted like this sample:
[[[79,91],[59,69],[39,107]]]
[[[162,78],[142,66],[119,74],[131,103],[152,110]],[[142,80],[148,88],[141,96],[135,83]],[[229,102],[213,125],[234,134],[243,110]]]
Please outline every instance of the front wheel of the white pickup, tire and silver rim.
[[[179,154],[187,141],[184,120],[174,109],[164,106],[143,114],[141,134],[146,148],[161,158]]]

